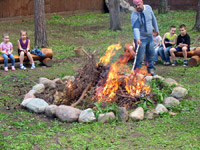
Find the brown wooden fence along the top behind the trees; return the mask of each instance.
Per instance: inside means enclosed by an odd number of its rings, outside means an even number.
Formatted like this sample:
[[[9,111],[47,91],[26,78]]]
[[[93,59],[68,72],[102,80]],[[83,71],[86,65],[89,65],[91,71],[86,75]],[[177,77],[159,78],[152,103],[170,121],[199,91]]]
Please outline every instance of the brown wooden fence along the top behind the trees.
[[[198,0],[168,0],[169,9],[197,9]],[[132,4],[132,0],[129,0]],[[159,7],[159,0],[144,0],[154,9]],[[104,0],[45,0],[46,13],[76,11],[104,11]],[[30,16],[34,14],[34,0],[0,0],[0,18]]]

